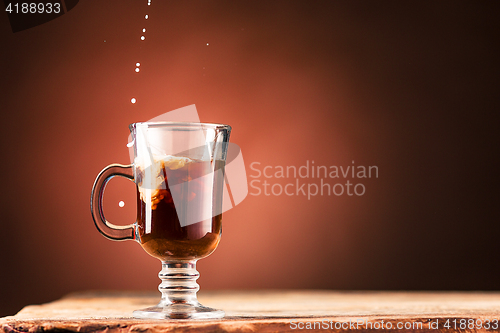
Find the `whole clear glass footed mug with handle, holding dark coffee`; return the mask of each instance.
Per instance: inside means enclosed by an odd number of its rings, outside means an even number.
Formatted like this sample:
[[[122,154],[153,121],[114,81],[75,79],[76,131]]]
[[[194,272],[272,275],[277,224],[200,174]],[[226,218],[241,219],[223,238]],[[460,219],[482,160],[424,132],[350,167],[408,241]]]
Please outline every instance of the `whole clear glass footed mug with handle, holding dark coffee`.
[[[196,261],[210,255],[222,232],[224,166],[231,127],[203,123],[130,125],[134,163],[111,164],[97,176],[91,211],[97,229],[111,240],[136,240],[162,262],[156,306],[136,310],[137,318],[222,318],[201,305]],[[121,176],[137,185],[137,221],[108,222],[102,199],[107,182]]]

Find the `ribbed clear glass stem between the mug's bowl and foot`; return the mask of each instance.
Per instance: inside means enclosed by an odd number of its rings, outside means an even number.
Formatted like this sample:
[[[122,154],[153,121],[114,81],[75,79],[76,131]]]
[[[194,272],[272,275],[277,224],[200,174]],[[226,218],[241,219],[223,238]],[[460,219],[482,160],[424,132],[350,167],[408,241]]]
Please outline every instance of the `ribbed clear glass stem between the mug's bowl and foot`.
[[[196,293],[200,289],[196,280],[200,273],[196,270],[196,260],[163,261],[158,274],[161,279],[158,290],[161,292],[161,305],[186,304],[198,306]]]

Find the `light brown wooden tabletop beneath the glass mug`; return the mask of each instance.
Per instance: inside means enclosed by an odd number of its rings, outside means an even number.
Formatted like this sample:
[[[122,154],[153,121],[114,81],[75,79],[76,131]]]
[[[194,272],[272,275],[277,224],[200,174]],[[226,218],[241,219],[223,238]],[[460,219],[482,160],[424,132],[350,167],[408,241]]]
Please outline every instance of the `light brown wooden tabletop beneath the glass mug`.
[[[82,292],[0,318],[0,332],[500,332],[500,293],[217,291],[202,304],[222,320],[144,320],[158,292]],[[400,329],[398,329],[400,328]]]

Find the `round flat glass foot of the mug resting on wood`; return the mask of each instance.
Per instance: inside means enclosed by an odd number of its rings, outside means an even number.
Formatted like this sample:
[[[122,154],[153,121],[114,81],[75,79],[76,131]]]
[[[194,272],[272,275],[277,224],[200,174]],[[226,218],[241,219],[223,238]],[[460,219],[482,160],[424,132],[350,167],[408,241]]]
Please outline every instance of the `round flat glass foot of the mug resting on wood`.
[[[157,305],[134,311],[135,318],[144,319],[218,319],[224,315],[222,310],[208,308],[199,303],[196,306],[190,304]]]

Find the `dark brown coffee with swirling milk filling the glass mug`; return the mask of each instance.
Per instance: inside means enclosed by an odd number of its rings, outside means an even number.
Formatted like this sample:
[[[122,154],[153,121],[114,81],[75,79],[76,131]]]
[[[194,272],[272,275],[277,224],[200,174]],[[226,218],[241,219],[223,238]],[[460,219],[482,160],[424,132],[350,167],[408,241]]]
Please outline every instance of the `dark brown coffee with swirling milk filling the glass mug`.
[[[222,163],[178,156],[152,162],[136,167],[142,247],[162,261],[208,256],[222,231]]]

